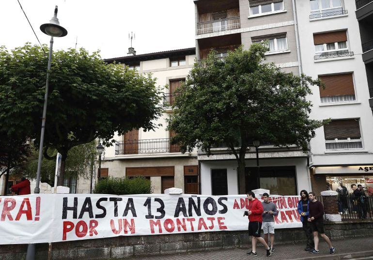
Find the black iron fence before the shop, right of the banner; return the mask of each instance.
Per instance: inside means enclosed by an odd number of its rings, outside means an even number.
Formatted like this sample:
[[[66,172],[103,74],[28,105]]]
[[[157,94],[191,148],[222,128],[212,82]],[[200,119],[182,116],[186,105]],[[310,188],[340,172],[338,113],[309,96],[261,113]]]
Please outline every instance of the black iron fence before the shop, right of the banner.
[[[339,196],[338,211],[342,220],[373,219],[373,197]]]

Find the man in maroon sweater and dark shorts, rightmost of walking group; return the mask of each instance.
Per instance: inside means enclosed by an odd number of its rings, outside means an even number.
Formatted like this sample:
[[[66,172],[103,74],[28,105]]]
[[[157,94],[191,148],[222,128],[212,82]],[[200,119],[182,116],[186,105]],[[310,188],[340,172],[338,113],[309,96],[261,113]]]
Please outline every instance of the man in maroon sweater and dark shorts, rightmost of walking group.
[[[310,199],[309,204],[309,216],[308,221],[311,222],[311,227],[313,231],[313,241],[315,243],[315,248],[310,251],[310,253],[318,254],[319,251],[319,233],[320,236],[325,240],[327,245],[329,245],[330,254],[335,253],[335,248],[331,245],[330,239],[326,236],[324,231],[324,206],[323,204],[315,198],[316,194],[310,192],[308,198]]]

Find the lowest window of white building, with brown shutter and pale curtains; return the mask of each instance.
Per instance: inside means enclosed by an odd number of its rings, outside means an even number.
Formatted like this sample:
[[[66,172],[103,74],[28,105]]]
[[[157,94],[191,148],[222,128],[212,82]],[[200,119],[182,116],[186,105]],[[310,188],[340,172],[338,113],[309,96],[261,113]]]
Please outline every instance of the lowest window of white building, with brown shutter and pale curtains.
[[[361,149],[358,119],[332,120],[324,125],[326,150]]]

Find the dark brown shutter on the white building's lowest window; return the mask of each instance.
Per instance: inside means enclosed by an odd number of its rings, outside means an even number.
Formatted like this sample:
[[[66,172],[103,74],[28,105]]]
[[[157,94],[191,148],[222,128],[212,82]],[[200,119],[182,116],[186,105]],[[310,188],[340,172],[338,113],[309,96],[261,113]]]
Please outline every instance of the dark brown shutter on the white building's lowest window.
[[[325,139],[360,138],[359,121],[355,119],[333,120],[324,125]]]

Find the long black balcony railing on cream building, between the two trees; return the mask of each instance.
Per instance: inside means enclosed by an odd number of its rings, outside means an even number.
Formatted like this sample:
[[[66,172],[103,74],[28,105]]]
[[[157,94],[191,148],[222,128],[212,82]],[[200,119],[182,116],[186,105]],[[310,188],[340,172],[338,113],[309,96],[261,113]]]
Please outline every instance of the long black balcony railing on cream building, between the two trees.
[[[170,138],[126,140],[115,142],[115,154],[179,153],[180,146],[171,144]]]

